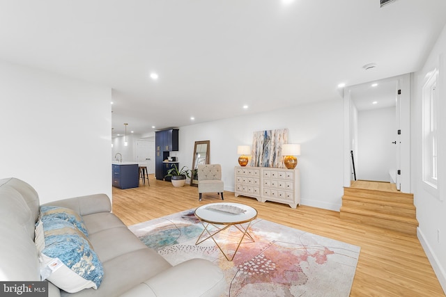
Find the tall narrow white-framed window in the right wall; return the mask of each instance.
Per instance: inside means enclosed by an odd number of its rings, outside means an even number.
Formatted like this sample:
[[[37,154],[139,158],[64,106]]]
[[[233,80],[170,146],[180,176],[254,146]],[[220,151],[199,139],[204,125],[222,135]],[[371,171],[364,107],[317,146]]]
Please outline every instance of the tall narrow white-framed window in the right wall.
[[[423,87],[423,182],[435,190],[437,189],[437,79],[438,70],[434,70]]]

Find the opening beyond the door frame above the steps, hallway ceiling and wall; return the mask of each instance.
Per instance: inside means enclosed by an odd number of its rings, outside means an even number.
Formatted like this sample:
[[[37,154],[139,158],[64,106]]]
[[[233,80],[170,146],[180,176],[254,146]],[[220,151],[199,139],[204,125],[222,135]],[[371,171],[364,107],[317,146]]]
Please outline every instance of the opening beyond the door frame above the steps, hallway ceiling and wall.
[[[353,138],[357,179],[396,182],[392,180],[392,172],[397,170],[396,97],[396,80],[351,88],[357,112],[357,136]]]

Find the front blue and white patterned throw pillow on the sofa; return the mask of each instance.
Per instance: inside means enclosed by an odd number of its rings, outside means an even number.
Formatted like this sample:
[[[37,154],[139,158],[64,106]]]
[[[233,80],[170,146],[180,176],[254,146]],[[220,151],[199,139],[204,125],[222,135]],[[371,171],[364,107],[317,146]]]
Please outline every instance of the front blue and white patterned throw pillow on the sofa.
[[[97,289],[104,269],[86,235],[61,218],[42,220],[36,226],[37,246],[38,237],[42,236],[40,224],[45,237],[45,246],[40,250],[42,279],[70,293]]]

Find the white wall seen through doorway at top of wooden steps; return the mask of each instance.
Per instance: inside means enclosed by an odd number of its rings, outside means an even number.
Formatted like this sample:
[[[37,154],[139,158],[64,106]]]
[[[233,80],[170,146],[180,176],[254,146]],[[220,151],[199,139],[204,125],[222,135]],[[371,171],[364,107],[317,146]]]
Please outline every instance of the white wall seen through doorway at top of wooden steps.
[[[357,179],[390,182],[397,168],[395,107],[359,111],[357,114]]]

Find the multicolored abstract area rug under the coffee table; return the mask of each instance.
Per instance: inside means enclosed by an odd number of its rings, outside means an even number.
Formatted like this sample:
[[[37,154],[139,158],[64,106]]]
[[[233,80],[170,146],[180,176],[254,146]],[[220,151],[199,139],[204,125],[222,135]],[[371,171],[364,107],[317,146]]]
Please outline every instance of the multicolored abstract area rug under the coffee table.
[[[194,209],[132,225],[129,229],[149,248],[176,265],[208,259],[227,280],[222,296],[349,296],[360,247],[257,218],[232,262],[212,239],[195,245],[203,225]],[[240,230],[230,227],[217,236],[229,255]]]

